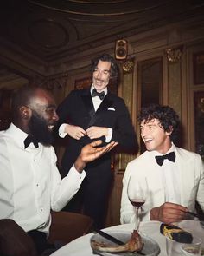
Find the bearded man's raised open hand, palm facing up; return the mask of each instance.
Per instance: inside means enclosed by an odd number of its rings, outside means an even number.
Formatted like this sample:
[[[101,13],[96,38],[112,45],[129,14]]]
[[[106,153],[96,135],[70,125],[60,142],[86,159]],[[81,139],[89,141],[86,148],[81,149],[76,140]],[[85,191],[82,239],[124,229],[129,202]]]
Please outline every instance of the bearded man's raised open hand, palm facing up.
[[[112,148],[118,145],[118,142],[112,141],[104,147],[96,148],[101,143],[102,141],[100,140],[93,141],[92,143],[87,144],[81,149],[80,155],[74,163],[74,167],[77,169],[78,172],[82,172],[84,167],[86,167],[87,162],[96,160],[101,155],[105,154],[106,152],[109,152],[110,150],[112,150]]]

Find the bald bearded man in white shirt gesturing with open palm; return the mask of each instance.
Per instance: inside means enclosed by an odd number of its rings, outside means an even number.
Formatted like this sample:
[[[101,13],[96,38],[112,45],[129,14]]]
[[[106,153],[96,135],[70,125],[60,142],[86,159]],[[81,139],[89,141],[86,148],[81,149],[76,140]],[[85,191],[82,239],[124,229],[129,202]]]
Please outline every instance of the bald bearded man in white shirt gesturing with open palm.
[[[58,121],[55,109],[47,90],[22,88],[12,101],[12,123],[0,132],[1,255],[40,255],[47,249],[50,210],[60,211],[76,194],[87,162],[117,144],[113,141],[99,148],[102,141],[94,141],[86,145],[61,180],[51,146],[51,131]]]

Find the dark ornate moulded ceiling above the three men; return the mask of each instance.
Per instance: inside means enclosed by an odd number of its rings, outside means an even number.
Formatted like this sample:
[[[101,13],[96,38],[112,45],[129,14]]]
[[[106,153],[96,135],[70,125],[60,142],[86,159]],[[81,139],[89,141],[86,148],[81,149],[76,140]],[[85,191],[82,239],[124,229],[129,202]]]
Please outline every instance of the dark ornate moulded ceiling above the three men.
[[[12,52],[46,69],[105,44],[114,48],[118,39],[194,16],[203,0],[7,0],[1,4],[0,64]]]

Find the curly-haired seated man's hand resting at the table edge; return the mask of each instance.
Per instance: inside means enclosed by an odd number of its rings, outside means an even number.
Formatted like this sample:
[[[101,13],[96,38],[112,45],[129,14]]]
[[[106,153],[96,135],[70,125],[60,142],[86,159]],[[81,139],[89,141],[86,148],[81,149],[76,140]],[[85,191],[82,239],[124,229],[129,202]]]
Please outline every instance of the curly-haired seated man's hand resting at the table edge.
[[[170,224],[172,222],[185,220],[186,211],[187,207],[166,202],[162,206],[150,210],[150,220],[159,220]]]

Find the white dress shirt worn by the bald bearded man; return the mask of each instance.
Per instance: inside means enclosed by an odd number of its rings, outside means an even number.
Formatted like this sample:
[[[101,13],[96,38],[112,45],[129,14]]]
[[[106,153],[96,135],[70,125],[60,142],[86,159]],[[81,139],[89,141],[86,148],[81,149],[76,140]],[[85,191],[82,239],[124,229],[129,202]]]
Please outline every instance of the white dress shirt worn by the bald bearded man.
[[[54,148],[33,143],[24,149],[27,134],[11,123],[0,132],[0,219],[13,219],[26,232],[48,233],[50,209],[60,211],[79,190],[86,176],[74,167],[61,180]]]

